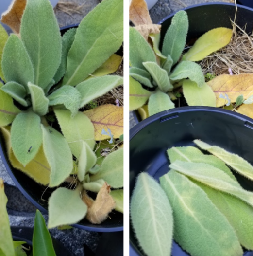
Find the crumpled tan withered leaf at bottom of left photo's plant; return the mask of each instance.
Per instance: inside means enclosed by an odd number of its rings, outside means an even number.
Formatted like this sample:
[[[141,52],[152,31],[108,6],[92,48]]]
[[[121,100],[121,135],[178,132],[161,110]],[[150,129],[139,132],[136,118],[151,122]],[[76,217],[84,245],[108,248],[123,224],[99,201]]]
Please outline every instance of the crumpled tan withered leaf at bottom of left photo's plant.
[[[101,224],[107,219],[108,214],[116,207],[113,197],[110,195],[111,186],[106,182],[101,187],[97,198],[94,201],[86,193],[83,196],[83,201],[88,206],[86,219],[93,224]]]

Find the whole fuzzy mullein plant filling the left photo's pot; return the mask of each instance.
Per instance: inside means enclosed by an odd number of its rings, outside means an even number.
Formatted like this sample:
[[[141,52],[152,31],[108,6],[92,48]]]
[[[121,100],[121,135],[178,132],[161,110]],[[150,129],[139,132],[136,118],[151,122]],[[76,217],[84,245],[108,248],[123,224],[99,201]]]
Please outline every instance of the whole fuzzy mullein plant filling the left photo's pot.
[[[114,144],[106,157],[95,153],[101,142],[83,111],[123,84],[123,77],[108,75],[121,62],[114,53],[123,42],[123,0],[104,0],[62,37],[49,0],[27,0],[19,34],[8,37],[2,27],[0,34],[0,127],[10,163],[45,186],[75,185],[52,193],[49,227],[85,216],[101,223],[112,209],[122,212],[123,190],[110,194],[110,188],[123,187],[123,148]],[[98,192],[95,201],[87,190]]]

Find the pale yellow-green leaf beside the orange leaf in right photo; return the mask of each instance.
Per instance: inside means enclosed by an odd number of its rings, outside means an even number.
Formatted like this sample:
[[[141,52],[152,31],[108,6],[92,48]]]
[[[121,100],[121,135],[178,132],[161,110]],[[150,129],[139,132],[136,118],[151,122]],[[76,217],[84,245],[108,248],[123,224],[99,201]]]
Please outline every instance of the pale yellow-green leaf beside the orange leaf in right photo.
[[[195,82],[185,79],[183,93],[188,106],[216,107],[215,93],[207,83],[199,87]]]

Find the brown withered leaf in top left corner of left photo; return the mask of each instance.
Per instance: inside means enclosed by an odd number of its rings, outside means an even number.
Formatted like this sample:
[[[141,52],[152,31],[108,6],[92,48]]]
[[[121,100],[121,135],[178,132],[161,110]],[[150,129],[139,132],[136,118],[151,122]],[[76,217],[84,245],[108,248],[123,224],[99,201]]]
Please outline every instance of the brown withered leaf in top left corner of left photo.
[[[19,34],[21,18],[26,7],[26,0],[13,0],[10,7],[2,14],[1,22]]]

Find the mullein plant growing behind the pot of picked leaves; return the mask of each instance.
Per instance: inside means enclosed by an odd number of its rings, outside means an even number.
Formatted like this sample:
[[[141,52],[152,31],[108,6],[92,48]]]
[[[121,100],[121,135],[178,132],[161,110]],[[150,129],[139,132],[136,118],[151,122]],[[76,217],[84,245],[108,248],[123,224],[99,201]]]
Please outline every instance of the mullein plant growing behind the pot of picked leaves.
[[[174,15],[162,42],[161,25],[152,24],[144,0],[132,0],[130,20],[135,25],[130,27],[130,111],[140,109],[146,118],[173,109],[181,92],[189,106],[216,107],[215,94],[196,62],[226,46],[233,31],[210,30],[184,53],[189,27],[185,11]]]

